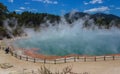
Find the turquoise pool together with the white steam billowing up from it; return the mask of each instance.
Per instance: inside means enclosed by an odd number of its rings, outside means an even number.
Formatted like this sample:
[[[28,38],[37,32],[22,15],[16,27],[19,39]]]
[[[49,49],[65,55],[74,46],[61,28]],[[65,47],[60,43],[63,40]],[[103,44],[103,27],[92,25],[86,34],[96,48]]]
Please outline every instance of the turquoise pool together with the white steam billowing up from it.
[[[84,28],[85,21],[90,23]],[[49,25],[44,27],[44,25]],[[20,48],[39,48],[38,52],[45,55],[106,55],[120,53],[120,31],[111,29],[98,29],[94,21],[88,18],[79,19],[68,24],[64,18],[60,23],[41,24],[40,32],[26,29],[28,39],[14,42]]]

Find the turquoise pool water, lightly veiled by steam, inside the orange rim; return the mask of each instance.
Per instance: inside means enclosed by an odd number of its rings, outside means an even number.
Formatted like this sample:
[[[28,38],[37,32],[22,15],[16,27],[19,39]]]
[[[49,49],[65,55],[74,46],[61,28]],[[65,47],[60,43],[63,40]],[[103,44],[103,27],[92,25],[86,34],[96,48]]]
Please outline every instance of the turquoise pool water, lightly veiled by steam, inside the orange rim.
[[[38,48],[45,55],[107,55],[120,53],[120,33],[118,31],[44,32],[28,39],[13,42],[20,48]]]

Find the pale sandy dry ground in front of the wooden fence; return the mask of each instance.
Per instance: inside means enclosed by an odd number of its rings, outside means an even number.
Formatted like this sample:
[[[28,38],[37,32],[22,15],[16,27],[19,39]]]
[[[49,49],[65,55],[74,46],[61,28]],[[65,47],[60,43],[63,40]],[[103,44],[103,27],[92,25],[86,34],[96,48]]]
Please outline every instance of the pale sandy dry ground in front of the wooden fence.
[[[19,60],[10,54],[5,54],[0,50],[0,64],[10,63],[14,67],[9,69],[0,68],[0,74],[9,74],[9,72],[23,72],[24,71],[37,71],[38,68],[43,66],[42,63],[33,63],[28,61]],[[97,61],[97,62],[72,62],[65,64],[45,64],[51,71],[62,71],[66,66],[72,66],[72,71],[75,73],[86,74],[120,74],[120,60],[115,61]]]

